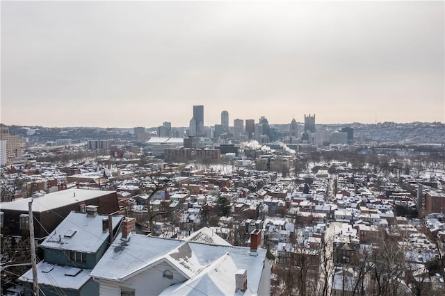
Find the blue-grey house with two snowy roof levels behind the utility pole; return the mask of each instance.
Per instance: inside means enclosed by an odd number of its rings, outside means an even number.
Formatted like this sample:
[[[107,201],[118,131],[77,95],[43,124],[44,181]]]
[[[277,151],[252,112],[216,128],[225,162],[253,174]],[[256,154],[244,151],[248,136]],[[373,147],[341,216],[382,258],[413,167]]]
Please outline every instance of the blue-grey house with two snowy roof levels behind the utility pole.
[[[37,265],[37,279],[42,295],[99,295],[99,283],[90,272],[111,245],[123,217],[98,215],[97,208],[71,212],[40,245],[44,260]],[[24,281],[25,295],[32,295],[33,270],[19,280]]]

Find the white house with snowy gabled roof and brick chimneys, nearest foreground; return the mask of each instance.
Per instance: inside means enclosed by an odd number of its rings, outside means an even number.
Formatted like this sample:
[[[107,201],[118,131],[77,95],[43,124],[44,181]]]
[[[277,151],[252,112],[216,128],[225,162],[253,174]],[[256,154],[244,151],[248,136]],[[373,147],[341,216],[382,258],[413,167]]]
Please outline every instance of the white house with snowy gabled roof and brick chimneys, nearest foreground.
[[[100,295],[270,295],[274,257],[259,248],[260,230],[250,247],[234,247],[207,228],[173,240],[131,233],[126,223],[90,273]]]

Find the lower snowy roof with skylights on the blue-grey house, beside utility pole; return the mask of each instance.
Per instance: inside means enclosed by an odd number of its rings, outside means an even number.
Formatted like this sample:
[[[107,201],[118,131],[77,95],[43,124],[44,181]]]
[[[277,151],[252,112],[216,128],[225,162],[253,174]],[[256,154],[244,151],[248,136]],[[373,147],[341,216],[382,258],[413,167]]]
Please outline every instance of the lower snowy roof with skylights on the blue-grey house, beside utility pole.
[[[37,279],[40,285],[79,290],[89,279],[91,270],[55,265],[41,261],[37,265]],[[33,270],[28,270],[19,281],[33,282]]]

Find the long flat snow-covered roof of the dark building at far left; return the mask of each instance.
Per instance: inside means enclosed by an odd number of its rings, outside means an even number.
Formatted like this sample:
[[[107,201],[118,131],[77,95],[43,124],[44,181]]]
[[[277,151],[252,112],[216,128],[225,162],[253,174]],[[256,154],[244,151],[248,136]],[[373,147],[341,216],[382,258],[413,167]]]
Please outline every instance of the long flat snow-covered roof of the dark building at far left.
[[[67,189],[60,190],[46,195],[32,198],[33,212],[44,212],[54,210],[70,204],[79,204],[86,200],[109,195],[115,191],[111,190],[88,190],[88,189]],[[17,199],[13,202],[2,202],[0,204],[3,210],[28,212],[28,203],[31,198]]]

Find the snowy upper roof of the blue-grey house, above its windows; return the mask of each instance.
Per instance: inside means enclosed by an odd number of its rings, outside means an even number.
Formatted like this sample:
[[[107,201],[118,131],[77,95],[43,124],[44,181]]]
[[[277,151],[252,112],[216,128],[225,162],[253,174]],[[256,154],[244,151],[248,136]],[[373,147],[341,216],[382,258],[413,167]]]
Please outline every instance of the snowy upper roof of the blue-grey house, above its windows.
[[[113,216],[113,229],[118,227],[123,216]],[[58,227],[42,242],[43,248],[67,249],[95,253],[108,240],[108,231],[102,231],[102,220],[108,216],[87,217],[86,213],[71,212]],[[108,225],[108,224],[107,224]]]

